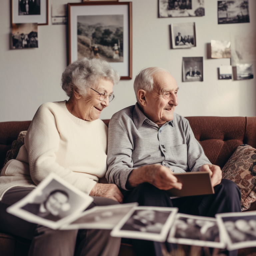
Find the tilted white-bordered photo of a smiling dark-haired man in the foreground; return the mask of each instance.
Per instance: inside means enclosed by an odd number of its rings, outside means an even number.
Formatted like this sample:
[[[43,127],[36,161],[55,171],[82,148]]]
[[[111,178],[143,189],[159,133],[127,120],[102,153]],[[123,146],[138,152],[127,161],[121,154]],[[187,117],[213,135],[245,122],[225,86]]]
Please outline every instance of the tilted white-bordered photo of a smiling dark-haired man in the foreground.
[[[77,219],[92,201],[91,196],[51,173],[6,211],[26,221],[58,229]]]

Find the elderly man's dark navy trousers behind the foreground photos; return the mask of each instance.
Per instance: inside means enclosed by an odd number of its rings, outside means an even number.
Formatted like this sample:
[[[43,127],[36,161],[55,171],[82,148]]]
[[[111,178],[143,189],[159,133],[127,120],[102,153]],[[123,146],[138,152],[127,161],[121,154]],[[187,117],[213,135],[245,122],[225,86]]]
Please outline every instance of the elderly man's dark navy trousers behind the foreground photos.
[[[227,179],[214,187],[215,194],[187,196],[170,199],[164,190],[160,190],[149,183],[143,183],[127,192],[124,203],[138,202],[141,206],[178,207],[179,213],[215,217],[217,213],[241,212],[241,193],[238,186]],[[131,240],[138,255],[162,256],[160,244],[147,240]],[[170,246],[169,246],[170,247]],[[237,255],[236,251],[226,251],[229,256]]]

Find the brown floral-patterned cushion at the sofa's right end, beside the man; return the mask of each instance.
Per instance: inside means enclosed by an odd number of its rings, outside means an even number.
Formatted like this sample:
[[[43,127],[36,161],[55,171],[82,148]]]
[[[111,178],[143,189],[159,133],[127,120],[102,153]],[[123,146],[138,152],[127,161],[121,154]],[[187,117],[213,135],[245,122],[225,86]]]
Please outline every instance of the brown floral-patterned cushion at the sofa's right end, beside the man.
[[[241,210],[256,201],[256,149],[240,145],[222,169],[222,178],[232,180],[240,188]]]

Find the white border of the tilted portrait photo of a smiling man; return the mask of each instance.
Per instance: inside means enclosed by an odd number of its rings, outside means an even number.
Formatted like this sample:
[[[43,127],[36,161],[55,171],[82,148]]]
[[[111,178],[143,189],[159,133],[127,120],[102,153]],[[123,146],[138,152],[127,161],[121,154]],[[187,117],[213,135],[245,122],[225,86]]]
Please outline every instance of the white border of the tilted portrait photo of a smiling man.
[[[79,196],[85,199],[84,202],[80,204],[79,208],[77,208],[77,210],[74,213],[58,221],[52,221],[52,220],[47,220],[42,217],[36,216],[33,213],[30,213],[24,209],[21,209],[28,202],[31,202],[31,199],[38,194],[38,190],[43,190],[43,188],[45,188],[52,180],[56,180],[63,186],[67,187],[68,189],[70,189],[71,191],[73,191],[74,193],[78,194]],[[57,174],[50,173],[42,182],[40,182],[40,184],[33,191],[31,191],[27,196],[22,198],[17,203],[8,207],[6,211],[28,222],[37,223],[52,229],[59,229],[62,225],[70,223],[75,219],[77,219],[77,216],[80,216],[80,213],[83,212],[92,203],[92,201],[93,201],[93,198],[91,196],[85,194],[78,188],[75,188],[73,185],[63,180],[62,178],[60,178]]]

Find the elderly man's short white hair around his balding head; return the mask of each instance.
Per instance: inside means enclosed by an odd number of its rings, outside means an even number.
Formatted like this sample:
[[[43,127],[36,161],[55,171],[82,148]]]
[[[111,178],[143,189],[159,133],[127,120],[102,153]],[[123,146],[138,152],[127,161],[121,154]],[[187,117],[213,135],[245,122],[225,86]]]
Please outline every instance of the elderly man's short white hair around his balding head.
[[[137,92],[138,90],[144,90],[146,92],[151,92],[156,85],[154,82],[154,74],[159,72],[167,72],[170,74],[170,72],[164,68],[158,68],[158,67],[150,67],[142,69],[139,74],[135,77],[133,89],[136,95],[137,102]]]

